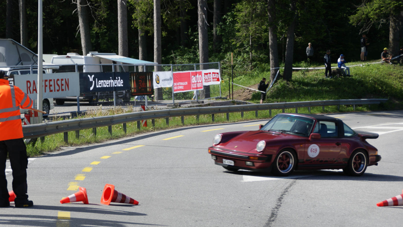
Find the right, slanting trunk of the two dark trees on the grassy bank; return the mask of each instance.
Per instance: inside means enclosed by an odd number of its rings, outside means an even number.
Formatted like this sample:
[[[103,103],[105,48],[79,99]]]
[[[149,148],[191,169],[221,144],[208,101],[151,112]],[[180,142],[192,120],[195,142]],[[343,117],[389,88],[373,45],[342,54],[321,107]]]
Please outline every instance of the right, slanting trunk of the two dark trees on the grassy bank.
[[[291,2],[290,13],[292,14],[290,26],[288,26],[287,31],[287,46],[286,46],[286,62],[284,66],[284,79],[290,81],[293,76],[293,56],[294,56],[294,39],[295,39],[295,20],[296,20],[296,12],[295,12],[295,0]]]

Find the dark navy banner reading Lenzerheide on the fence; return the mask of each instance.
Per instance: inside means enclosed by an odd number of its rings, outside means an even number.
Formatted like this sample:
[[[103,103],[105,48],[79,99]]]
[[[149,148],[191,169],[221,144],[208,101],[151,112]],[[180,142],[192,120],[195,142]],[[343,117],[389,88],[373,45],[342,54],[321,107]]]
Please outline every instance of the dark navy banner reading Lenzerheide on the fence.
[[[129,73],[80,73],[80,92],[130,90]]]

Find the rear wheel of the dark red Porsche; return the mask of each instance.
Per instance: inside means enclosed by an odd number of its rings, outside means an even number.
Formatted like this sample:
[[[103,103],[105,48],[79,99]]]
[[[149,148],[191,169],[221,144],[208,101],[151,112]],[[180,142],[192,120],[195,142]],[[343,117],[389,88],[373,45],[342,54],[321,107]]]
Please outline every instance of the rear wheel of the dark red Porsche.
[[[367,152],[363,150],[354,151],[351,154],[349,163],[344,170],[350,176],[358,177],[365,173],[368,165]]]

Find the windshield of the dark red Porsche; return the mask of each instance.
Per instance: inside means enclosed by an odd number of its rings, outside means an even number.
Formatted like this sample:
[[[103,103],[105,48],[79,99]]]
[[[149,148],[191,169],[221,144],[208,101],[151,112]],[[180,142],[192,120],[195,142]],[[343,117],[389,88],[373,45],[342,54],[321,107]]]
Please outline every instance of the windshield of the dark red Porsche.
[[[313,119],[297,115],[276,115],[260,130],[280,133],[291,133],[301,136],[309,136],[312,130]]]

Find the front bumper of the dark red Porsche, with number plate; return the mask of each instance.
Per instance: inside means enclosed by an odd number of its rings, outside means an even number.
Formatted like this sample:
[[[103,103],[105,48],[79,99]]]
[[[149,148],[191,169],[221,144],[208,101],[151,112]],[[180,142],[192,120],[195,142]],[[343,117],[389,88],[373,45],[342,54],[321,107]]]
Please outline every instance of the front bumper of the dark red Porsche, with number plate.
[[[217,165],[250,171],[270,171],[273,159],[273,155],[227,151],[212,147],[209,148],[209,153]],[[223,163],[223,159],[234,161],[234,165]]]

